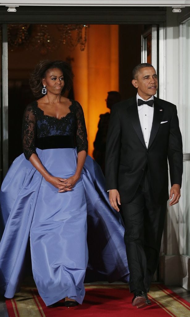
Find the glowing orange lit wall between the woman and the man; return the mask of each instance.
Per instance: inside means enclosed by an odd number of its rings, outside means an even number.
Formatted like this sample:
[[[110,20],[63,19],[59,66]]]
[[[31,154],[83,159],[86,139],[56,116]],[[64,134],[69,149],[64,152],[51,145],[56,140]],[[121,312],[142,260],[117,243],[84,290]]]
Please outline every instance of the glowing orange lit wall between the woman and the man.
[[[91,156],[99,116],[109,111],[107,92],[119,89],[118,46],[118,25],[90,25],[85,50],[72,52],[74,94],[84,110]]]

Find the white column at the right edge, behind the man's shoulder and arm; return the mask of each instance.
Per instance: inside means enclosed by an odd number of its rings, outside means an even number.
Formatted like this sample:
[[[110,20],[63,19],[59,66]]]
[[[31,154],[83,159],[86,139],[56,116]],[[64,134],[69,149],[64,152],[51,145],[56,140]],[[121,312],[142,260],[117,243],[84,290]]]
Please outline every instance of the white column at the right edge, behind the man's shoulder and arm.
[[[162,78],[163,86],[161,98],[168,100],[177,106],[180,129],[183,142],[185,143],[188,133],[186,133],[183,128],[183,112],[185,107],[183,99],[184,87],[187,85],[187,80],[184,78],[183,72],[184,67],[186,68],[187,65],[183,60],[183,50],[185,48],[184,44],[187,42],[187,39],[183,38],[183,27],[178,22],[178,18],[178,14],[173,13],[171,8],[167,8],[167,21],[165,25],[165,36],[163,42],[164,68],[162,69],[164,76]],[[162,55],[161,51],[160,54]],[[160,69],[160,72],[162,69]],[[186,88],[189,91],[189,87]],[[183,176],[183,179],[185,178],[189,178],[189,175],[187,176],[186,172]],[[186,213],[186,215],[188,215],[189,213],[189,211],[187,212],[186,210],[186,198],[189,196],[187,189],[187,182],[184,186],[183,181],[179,204],[168,207],[164,230],[164,256],[162,263],[165,284],[182,285],[188,289],[190,288],[190,278],[188,277],[190,258],[189,256],[183,255],[184,252],[187,252],[187,248],[185,246],[186,241],[184,239],[184,230],[187,227],[185,224],[187,224],[188,221],[187,217],[184,217],[184,214]]]

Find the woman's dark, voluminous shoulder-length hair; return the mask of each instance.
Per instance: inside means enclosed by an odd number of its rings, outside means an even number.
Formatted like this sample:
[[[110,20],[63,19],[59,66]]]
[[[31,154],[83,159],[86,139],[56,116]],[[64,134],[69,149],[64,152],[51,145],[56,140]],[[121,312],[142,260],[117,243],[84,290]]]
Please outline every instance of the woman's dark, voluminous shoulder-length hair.
[[[46,72],[52,68],[59,68],[63,72],[64,76],[64,87],[61,91],[61,95],[64,94],[65,90],[70,90],[72,87],[72,79],[73,79],[73,72],[70,67],[70,64],[66,61],[49,61],[49,60],[42,60],[40,61],[33,73],[30,74],[30,88],[36,98],[43,97],[41,93],[43,85],[42,79],[46,77]]]

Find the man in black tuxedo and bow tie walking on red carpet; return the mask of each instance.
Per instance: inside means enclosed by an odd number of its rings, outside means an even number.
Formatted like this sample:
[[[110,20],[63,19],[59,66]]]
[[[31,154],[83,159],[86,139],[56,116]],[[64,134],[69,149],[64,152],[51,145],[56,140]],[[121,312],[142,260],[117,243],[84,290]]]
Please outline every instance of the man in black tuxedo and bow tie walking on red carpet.
[[[180,199],[183,153],[176,106],[154,97],[155,69],[139,64],[132,76],[137,96],[111,111],[106,183],[110,204],[122,207],[132,305],[141,308],[151,304],[147,293],[159,262],[167,200],[172,206]]]

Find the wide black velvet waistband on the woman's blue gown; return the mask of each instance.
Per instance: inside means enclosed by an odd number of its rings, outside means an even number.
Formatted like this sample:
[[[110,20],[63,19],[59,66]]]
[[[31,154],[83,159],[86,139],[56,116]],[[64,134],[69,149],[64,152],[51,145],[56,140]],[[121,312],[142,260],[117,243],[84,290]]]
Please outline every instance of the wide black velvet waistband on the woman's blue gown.
[[[76,141],[72,135],[52,135],[37,139],[35,146],[41,150],[75,148]]]

